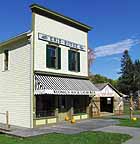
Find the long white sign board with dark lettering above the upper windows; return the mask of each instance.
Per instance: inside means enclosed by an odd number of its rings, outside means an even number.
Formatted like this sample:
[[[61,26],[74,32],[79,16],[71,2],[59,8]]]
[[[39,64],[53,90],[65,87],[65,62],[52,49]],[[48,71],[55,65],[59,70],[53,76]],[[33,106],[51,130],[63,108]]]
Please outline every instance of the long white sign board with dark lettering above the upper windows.
[[[67,41],[67,40],[64,40],[61,38],[53,37],[53,36],[42,34],[42,33],[38,33],[38,39],[43,40],[43,41],[47,41],[47,42],[52,42],[52,43],[59,44],[59,45],[63,45],[63,46],[67,46],[70,48],[82,50],[82,51],[85,50],[84,45],[77,44],[77,43],[74,43],[71,41]]]

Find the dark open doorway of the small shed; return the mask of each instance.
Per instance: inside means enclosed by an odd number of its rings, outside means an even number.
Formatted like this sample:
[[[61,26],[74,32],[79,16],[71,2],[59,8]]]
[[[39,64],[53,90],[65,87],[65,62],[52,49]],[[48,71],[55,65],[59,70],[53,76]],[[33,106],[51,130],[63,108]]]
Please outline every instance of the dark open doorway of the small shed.
[[[113,97],[100,97],[100,111],[113,113]]]

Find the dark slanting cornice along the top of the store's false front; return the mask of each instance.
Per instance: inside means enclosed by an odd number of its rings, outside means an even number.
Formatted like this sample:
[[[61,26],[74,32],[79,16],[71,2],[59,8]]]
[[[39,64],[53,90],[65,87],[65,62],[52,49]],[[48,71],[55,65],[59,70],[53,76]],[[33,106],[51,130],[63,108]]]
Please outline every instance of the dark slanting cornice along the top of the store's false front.
[[[80,29],[82,31],[85,31],[85,32],[88,32],[92,29],[92,27],[86,25],[86,24],[83,24],[77,20],[74,20],[72,18],[69,18],[67,16],[64,16],[62,14],[59,14],[57,12],[54,12],[48,8],[45,8],[43,6],[40,6],[38,4],[32,4],[30,6],[32,12],[35,12],[37,14],[40,14],[40,15],[43,15],[43,16],[46,16],[48,18],[51,18],[51,19],[54,19],[56,21],[59,21],[61,23],[64,23],[64,24],[67,24],[69,26],[72,26],[72,27],[75,27],[77,29]]]

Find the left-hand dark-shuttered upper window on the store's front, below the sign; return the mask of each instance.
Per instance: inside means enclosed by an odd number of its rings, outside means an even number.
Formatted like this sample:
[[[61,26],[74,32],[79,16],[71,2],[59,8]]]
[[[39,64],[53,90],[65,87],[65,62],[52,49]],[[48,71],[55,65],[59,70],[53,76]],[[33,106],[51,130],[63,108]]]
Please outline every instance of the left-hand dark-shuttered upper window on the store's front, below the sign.
[[[61,49],[59,47],[47,45],[46,66],[61,69]]]

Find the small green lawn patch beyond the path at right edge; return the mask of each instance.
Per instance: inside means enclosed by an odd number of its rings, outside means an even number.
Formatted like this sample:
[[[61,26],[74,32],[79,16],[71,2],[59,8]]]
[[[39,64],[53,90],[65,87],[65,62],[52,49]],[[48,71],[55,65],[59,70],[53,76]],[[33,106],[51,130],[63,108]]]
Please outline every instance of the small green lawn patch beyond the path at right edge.
[[[140,128],[140,119],[137,119],[136,121],[130,120],[130,119],[119,119],[120,126],[128,126],[128,127],[137,127]]]

